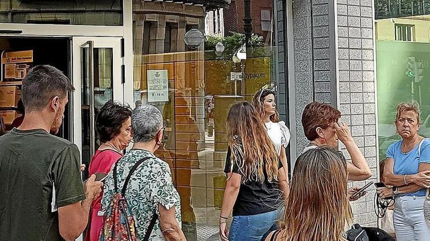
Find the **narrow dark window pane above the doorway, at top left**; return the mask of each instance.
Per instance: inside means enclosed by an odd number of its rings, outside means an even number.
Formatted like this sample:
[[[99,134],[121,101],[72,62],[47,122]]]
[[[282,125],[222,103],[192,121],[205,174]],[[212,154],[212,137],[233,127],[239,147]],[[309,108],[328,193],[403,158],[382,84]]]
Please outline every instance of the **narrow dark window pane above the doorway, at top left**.
[[[122,0],[0,0],[0,22],[123,25]]]

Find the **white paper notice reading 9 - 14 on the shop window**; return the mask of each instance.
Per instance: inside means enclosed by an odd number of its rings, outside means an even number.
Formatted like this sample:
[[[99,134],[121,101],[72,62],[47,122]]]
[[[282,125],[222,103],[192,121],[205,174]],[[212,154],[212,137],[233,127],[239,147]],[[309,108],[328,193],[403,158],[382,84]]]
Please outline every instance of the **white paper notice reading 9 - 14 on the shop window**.
[[[169,101],[167,70],[148,70],[148,102]]]

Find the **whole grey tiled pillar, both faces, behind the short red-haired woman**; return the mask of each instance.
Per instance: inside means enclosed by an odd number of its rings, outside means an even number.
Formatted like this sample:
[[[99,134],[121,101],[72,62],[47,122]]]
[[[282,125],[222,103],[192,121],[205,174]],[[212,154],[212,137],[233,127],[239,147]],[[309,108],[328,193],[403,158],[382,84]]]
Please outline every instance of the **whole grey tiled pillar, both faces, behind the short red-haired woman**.
[[[372,1],[294,0],[286,4],[292,166],[309,142],[301,126],[304,107],[311,101],[325,102],[342,112],[342,121],[350,126],[372,170],[369,180],[349,185],[376,181],[379,168]],[[342,144],[340,148],[350,160]],[[376,225],[374,193],[372,187],[366,197],[351,204],[355,222]]]

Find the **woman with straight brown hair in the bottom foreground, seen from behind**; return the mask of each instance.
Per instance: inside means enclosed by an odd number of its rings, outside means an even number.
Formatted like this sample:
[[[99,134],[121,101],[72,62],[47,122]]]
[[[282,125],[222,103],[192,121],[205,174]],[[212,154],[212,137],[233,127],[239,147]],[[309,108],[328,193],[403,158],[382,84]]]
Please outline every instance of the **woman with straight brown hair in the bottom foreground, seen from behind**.
[[[347,180],[346,162],[334,148],[304,152],[294,166],[285,221],[266,241],[346,241],[345,224],[352,221]]]

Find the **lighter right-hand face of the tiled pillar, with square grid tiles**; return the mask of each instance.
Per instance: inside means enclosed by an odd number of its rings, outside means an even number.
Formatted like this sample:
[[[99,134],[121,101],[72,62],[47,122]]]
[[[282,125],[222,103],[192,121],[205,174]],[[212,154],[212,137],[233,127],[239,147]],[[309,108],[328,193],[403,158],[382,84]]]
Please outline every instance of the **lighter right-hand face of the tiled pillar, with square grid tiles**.
[[[350,125],[352,136],[372,170],[372,177],[366,182],[350,184],[361,186],[378,177],[372,0],[338,0],[337,25],[338,107],[343,114],[342,120]],[[349,158],[346,149],[342,151]],[[374,192],[372,186],[366,198],[351,205],[356,222],[376,223]]]

